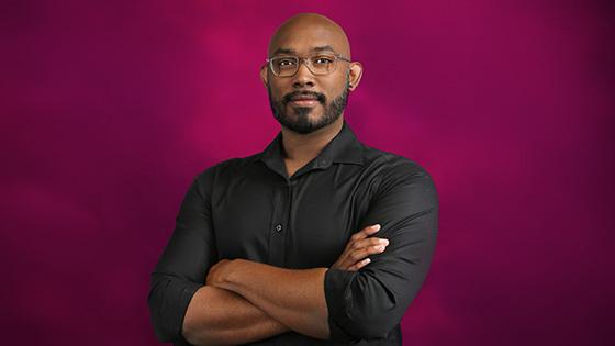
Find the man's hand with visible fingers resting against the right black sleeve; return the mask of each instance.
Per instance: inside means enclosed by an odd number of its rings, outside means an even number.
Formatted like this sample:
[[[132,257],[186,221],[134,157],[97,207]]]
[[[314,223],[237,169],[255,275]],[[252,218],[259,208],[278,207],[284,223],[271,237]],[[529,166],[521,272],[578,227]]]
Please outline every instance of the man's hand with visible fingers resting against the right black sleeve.
[[[369,258],[366,258],[367,256],[380,254],[389,245],[388,239],[368,238],[378,231],[380,231],[380,225],[376,224],[353,234],[350,241],[346,244],[346,248],[331,268],[355,271],[367,266],[370,261]]]

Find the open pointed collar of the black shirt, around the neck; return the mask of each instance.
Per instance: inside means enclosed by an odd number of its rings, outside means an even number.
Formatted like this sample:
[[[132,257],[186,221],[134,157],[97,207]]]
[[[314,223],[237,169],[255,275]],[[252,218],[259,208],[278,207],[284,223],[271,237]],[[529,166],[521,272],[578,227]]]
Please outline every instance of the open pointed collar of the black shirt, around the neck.
[[[283,163],[281,131],[276,138],[269,143],[267,148],[265,148],[259,159],[269,167],[278,167],[280,163]],[[359,139],[357,139],[346,120],[344,120],[342,130],[337,135],[335,135],[321,150],[318,156],[311,161],[311,168],[325,169],[336,163],[364,164],[364,146]]]

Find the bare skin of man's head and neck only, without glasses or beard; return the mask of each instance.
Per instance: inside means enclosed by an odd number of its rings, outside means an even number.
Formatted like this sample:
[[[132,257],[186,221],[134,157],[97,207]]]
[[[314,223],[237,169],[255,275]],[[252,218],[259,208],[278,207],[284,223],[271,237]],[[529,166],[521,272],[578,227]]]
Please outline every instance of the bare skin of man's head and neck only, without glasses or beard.
[[[315,47],[331,46],[334,52],[350,58],[350,44],[344,30],[329,19],[320,14],[299,14],[287,22],[276,32],[269,43],[268,56],[275,56],[278,49],[291,49],[297,56],[309,56]],[[354,91],[361,79],[362,66],[358,62],[337,62],[336,70],[327,76],[314,76],[305,65],[301,65],[293,77],[277,77],[264,65],[260,78],[270,93],[270,99],[280,100],[293,91],[313,91],[324,94],[329,100],[339,97],[349,83],[349,91]],[[291,120],[297,120],[298,111],[292,105],[286,109]],[[317,104],[306,115],[313,123],[324,116],[325,107]],[[299,168],[316,157],[323,147],[342,130],[344,113],[332,124],[309,134],[293,132],[281,126],[282,144],[286,152],[284,164],[289,177]]]

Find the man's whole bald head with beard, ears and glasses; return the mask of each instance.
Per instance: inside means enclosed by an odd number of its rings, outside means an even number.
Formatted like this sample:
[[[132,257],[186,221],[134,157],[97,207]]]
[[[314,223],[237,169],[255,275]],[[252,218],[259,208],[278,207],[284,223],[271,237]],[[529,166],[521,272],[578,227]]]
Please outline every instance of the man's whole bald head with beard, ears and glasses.
[[[344,30],[321,14],[301,13],[282,23],[269,42],[268,57],[272,62],[260,68],[260,77],[273,116],[282,126],[301,134],[336,121],[344,112],[348,92],[361,79],[362,66],[350,62],[350,44]],[[325,65],[335,69],[325,72]]]

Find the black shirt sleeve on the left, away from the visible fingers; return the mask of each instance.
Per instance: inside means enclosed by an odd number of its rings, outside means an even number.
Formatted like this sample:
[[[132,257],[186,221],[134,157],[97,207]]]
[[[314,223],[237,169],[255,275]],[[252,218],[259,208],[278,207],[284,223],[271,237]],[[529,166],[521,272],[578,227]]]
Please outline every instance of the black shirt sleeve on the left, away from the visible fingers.
[[[189,345],[181,334],[186,310],[217,258],[211,212],[212,177],[210,168],[193,179],[175,231],[150,276],[147,303],[160,342]]]

